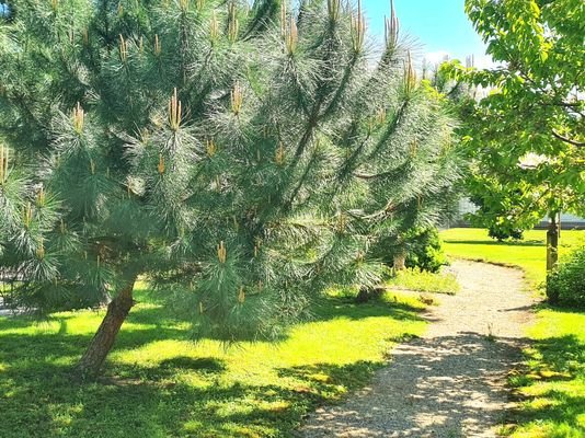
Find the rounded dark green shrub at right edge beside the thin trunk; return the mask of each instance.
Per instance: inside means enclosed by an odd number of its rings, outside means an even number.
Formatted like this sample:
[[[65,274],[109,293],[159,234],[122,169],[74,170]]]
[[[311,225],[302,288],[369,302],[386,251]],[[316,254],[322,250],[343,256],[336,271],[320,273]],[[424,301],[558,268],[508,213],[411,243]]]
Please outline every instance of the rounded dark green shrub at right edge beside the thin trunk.
[[[552,303],[585,308],[585,245],[570,254],[547,278]]]

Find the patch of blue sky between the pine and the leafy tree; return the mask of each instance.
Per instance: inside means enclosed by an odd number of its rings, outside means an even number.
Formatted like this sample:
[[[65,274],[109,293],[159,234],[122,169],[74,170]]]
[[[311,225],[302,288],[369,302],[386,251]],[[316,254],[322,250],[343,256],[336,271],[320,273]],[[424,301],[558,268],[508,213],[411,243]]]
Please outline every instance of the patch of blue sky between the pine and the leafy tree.
[[[362,0],[372,34],[383,35],[383,16],[390,14],[390,0]],[[402,35],[416,37],[429,60],[445,54],[464,60],[474,55],[478,67],[490,64],[485,46],[463,10],[464,0],[394,0]],[[434,59],[438,58],[438,59]]]

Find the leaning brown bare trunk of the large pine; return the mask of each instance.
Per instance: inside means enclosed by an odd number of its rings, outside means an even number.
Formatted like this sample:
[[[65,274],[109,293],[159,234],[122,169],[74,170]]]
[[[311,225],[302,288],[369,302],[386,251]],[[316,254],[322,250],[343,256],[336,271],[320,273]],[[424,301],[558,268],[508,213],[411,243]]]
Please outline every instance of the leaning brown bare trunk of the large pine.
[[[119,291],[107,304],[107,312],[100,324],[100,328],[76,366],[76,377],[81,380],[94,379],[99,376],[107,354],[116,341],[116,336],[134,306],[133,291],[136,277]]]

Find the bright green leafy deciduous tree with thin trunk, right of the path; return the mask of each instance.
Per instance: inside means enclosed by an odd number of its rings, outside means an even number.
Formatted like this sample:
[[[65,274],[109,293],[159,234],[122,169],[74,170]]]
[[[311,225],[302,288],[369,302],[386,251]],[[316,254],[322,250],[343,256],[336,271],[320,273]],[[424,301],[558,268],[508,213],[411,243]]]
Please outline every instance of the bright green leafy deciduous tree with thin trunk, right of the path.
[[[470,191],[489,226],[526,229],[548,215],[548,268],[557,263],[558,215],[584,215],[585,7],[573,0],[467,0],[500,67],[444,71],[490,93],[464,129]]]

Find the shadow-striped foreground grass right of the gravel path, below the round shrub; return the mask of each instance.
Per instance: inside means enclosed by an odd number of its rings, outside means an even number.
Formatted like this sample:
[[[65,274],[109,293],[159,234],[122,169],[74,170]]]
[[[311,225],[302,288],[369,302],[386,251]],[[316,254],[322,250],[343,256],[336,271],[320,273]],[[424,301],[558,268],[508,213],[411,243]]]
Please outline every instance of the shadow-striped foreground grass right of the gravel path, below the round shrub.
[[[514,438],[585,436],[585,313],[542,308],[526,367],[511,378],[519,407]]]

